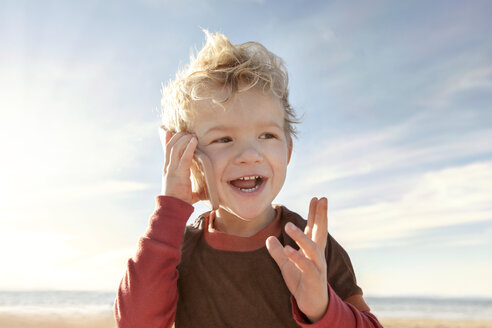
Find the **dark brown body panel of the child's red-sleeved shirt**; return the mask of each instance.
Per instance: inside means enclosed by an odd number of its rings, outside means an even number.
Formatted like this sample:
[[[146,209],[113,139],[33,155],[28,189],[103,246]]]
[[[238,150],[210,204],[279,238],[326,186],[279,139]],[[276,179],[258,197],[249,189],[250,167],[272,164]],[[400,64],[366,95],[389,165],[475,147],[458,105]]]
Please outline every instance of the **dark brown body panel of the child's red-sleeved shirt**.
[[[279,240],[298,249],[283,227],[290,221],[304,229],[306,221],[285,207],[280,210]],[[204,229],[201,216],[185,230],[176,328],[299,327],[292,317],[291,294],[266,247],[241,252],[214,249],[207,244]],[[326,259],[328,282],[342,299],[362,294],[350,258],[331,236]]]

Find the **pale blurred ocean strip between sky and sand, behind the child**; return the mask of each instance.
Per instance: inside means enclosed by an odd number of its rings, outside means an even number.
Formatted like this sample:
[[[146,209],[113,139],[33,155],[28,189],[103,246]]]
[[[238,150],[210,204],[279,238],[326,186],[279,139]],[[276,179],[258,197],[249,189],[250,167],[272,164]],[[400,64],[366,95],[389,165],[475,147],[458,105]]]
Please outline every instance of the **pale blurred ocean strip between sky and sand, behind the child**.
[[[110,314],[115,292],[0,291],[0,313]],[[492,299],[366,297],[379,318],[492,320]]]

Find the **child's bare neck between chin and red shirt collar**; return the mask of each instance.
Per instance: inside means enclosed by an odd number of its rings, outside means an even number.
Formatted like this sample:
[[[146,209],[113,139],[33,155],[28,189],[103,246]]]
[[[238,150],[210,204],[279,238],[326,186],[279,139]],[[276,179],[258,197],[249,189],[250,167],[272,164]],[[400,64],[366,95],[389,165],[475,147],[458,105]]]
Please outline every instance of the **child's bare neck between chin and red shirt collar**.
[[[214,229],[229,235],[251,237],[272,222],[275,213],[275,209],[269,206],[258,217],[244,220],[223,208],[219,208],[215,211]]]

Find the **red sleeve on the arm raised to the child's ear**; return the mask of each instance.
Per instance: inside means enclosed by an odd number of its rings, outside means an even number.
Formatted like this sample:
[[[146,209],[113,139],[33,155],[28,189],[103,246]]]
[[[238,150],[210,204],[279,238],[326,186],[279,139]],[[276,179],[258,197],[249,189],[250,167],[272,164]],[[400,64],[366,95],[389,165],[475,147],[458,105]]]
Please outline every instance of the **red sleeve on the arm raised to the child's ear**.
[[[171,327],[178,301],[176,269],[186,222],[193,206],[157,196],[156,209],[136,255],[128,260],[114,304],[119,328]]]

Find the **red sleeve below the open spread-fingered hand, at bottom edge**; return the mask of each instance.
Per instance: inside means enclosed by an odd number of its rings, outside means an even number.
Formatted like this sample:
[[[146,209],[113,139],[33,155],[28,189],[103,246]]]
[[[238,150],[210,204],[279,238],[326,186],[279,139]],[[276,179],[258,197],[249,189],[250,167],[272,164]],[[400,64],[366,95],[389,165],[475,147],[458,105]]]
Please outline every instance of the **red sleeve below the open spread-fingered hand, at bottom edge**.
[[[303,328],[383,328],[378,319],[371,312],[361,312],[353,305],[342,299],[328,285],[328,308],[324,316],[315,323],[310,323],[306,315],[299,310],[294,297],[292,301],[292,314],[297,324]]]

